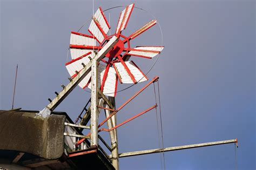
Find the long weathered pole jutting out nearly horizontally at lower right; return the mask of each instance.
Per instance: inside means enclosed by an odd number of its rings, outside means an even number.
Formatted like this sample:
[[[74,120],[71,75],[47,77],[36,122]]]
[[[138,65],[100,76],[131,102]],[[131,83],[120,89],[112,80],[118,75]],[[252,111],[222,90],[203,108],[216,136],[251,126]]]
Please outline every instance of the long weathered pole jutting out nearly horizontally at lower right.
[[[184,146],[174,146],[174,147],[150,149],[150,150],[144,150],[144,151],[126,152],[126,153],[120,153],[119,158],[131,157],[131,156],[136,156],[136,155],[151,154],[151,153],[159,153],[159,152],[177,151],[177,150],[181,150],[181,149],[190,149],[190,148],[196,148],[196,147],[232,144],[232,143],[237,143],[238,144],[238,140],[237,139],[231,139],[231,140],[207,142],[207,143],[202,143],[202,144],[193,144],[193,145],[184,145]],[[112,155],[110,155],[110,158],[112,158]]]

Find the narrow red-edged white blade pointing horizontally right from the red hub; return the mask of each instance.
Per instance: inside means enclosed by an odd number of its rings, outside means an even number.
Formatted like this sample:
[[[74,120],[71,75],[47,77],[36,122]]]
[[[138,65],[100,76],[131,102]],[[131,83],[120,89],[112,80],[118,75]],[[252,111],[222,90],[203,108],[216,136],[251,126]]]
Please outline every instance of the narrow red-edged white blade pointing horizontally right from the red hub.
[[[127,55],[152,58],[158,55],[163,49],[164,46],[137,46],[134,49],[128,49],[130,52]]]

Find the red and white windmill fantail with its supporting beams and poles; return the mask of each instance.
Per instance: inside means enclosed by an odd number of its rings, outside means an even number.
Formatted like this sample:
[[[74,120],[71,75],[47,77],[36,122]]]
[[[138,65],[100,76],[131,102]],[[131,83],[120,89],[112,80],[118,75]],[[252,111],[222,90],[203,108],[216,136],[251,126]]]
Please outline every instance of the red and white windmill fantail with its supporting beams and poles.
[[[64,133],[64,135],[78,137],[79,140],[77,141],[76,146],[80,145],[85,139],[90,139],[91,147],[99,147],[98,139],[102,139],[99,137],[98,132],[109,132],[111,138],[111,147],[105,144],[104,140],[102,141],[107,148],[110,148],[112,154],[106,155],[106,157],[111,158],[112,165],[115,169],[119,169],[119,157],[130,157],[133,155],[176,151],[186,148],[237,143],[237,139],[232,139],[204,144],[158,148],[147,151],[121,154],[118,153],[117,127],[124,125],[128,121],[139,117],[153,108],[156,108],[157,104],[147,108],[134,117],[127,119],[119,125],[117,125],[116,122],[116,113],[127,105],[132,99],[134,99],[140,92],[145,90],[150,84],[158,81],[158,77],[154,77],[141,90],[130,97],[124,104],[116,108],[114,97],[116,97],[117,94],[118,80],[121,84],[137,84],[148,80],[145,73],[131,59],[132,57],[151,59],[157,56],[164,48],[164,46],[131,47],[130,41],[157,23],[156,19],[153,19],[137,31],[133,32],[131,35],[125,36],[123,34],[123,30],[127,28],[133,9],[134,4],[131,4],[126,6],[126,8],[120,13],[116,31],[113,35],[107,35],[110,30],[110,24],[107,21],[102,8],[99,8],[92,16],[92,21],[88,29],[90,35],[81,32],[71,32],[71,60],[65,64],[66,69],[71,76],[69,78],[70,83],[66,86],[62,85],[63,90],[59,93],[55,92],[57,95],[56,98],[53,100],[49,99],[50,104],[47,105],[44,110],[39,112],[38,115],[47,117],[49,114],[51,114],[51,111],[55,110],[55,108],[65,99],[66,96],[69,95],[73,89],[75,89],[77,85],[83,89],[91,89],[91,106],[88,110],[86,110],[84,115],[84,118],[86,117],[86,119],[90,119],[91,125],[86,126],[83,121],[81,121],[82,124],[79,125],[65,124],[79,128],[88,128],[90,129],[90,133],[87,135]],[[98,115],[100,110],[105,111],[106,119],[104,119],[102,123],[98,124]],[[105,123],[107,123],[109,129],[100,128]],[[69,157],[73,156],[74,155],[71,154],[69,155]]]

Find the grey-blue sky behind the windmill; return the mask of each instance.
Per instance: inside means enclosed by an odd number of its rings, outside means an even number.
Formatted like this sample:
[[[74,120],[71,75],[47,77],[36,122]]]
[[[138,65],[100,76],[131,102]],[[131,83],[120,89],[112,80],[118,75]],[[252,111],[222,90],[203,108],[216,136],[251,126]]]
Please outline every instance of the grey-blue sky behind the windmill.
[[[11,108],[18,64],[15,107],[42,110],[47,99],[61,90],[60,85],[68,84],[64,64],[70,31],[77,31],[91,17],[92,1],[0,2],[0,109]],[[95,10],[98,6],[107,9],[131,3],[95,0]],[[163,30],[165,49],[148,77],[160,77],[164,146],[238,138],[238,169],[255,169],[255,1],[135,3],[150,11]],[[107,18],[110,13],[112,28],[116,28],[122,10],[105,12]],[[135,9],[124,34],[129,35],[150,19],[149,13]],[[154,26],[132,45],[160,42],[159,28]],[[144,72],[154,62],[132,59]],[[144,84],[118,93],[117,106]],[[123,87],[119,84],[118,90]],[[67,112],[75,120],[89,98],[90,93],[77,87],[56,111]],[[150,86],[118,113],[118,123],[153,104]],[[103,118],[101,114],[100,120]],[[108,134],[101,133],[108,140]],[[119,152],[158,148],[156,113],[151,111],[120,127],[118,139]],[[166,169],[235,169],[234,145],[166,152],[165,164]],[[160,154],[122,158],[120,168],[160,169]]]

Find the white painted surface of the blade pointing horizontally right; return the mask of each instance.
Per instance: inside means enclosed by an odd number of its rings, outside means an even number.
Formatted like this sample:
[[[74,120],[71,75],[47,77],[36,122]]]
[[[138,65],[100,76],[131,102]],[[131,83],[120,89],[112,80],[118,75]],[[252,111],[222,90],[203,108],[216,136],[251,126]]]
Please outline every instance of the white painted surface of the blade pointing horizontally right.
[[[158,53],[157,52],[145,52],[145,51],[130,51],[130,52],[128,52],[128,55],[131,55],[131,56],[145,56],[145,57],[152,58],[152,57],[158,55],[164,49],[164,47],[162,47],[162,46],[140,46],[140,47],[136,47],[134,49],[158,51]]]

